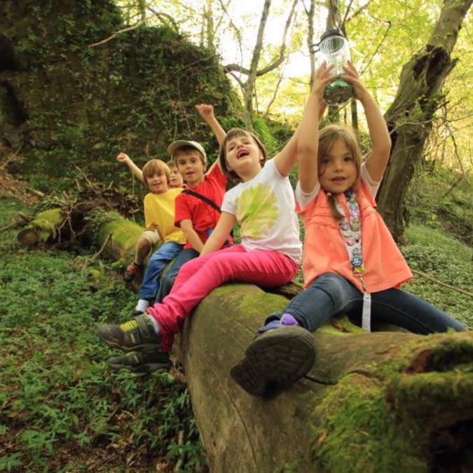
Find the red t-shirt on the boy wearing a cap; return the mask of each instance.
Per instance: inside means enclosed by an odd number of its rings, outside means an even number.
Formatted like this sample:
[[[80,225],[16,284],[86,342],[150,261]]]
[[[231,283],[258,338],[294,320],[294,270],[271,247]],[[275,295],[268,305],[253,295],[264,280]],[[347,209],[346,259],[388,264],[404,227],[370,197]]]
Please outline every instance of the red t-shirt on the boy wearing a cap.
[[[224,200],[226,177],[220,167],[215,165],[210,174],[205,174],[204,180],[198,186],[188,186],[188,189],[200,193],[213,203],[221,207]],[[176,198],[174,225],[180,226],[181,220],[191,220],[196,233],[203,243],[209,238],[209,231],[213,230],[219,221],[220,214],[213,207],[195,196],[180,194]],[[184,248],[192,248],[186,242]]]

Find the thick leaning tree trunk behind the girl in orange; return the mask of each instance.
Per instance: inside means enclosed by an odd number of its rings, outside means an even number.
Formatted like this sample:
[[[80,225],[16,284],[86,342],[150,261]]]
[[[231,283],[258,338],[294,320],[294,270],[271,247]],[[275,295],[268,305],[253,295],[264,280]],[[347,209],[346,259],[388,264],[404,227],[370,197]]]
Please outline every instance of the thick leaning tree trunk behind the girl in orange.
[[[391,133],[392,150],[378,206],[395,240],[404,233],[404,198],[416,165],[423,156],[432,118],[443,97],[440,91],[455,66],[453,47],[472,0],[445,0],[432,36],[402,68],[394,102],[385,114]]]

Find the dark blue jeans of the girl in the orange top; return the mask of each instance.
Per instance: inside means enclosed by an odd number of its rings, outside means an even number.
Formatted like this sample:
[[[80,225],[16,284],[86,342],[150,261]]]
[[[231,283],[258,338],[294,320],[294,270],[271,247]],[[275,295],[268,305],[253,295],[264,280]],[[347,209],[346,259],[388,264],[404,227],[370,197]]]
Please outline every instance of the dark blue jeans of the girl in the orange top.
[[[285,310],[270,315],[266,322],[287,313],[293,315],[302,327],[314,331],[332,315],[344,313],[360,319],[362,306],[362,292],[344,277],[324,273],[294,297]],[[447,329],[465,330],[450,315],[400,289],[371,293],[371,321],[389,322],[416,334],[432,334]]]

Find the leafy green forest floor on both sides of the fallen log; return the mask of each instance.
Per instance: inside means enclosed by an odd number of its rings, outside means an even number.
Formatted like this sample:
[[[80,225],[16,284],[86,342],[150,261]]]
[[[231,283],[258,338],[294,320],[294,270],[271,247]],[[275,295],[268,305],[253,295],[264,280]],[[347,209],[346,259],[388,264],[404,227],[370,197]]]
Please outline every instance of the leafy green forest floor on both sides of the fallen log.
[[[1,179],[0,228],[34,200]],[[127,320],[135,302],[121,275],[91,263],[90,249],[21,249],[16,233],[0,233],[0,471],[207,471],[181,371],[104,364],[112,352],[97,324]],[[438,221],[412,224],[402,252],[414,270],[473,292],[472,247]],[[473,329],[471,296],[423,276],[404,288]]]

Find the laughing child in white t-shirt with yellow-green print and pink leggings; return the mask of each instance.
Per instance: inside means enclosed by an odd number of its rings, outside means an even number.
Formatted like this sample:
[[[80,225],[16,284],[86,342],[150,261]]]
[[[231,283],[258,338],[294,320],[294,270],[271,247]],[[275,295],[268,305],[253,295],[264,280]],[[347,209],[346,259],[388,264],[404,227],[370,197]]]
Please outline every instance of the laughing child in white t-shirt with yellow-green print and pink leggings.
[[[163,303],[154,304],[125,324],[99,329],[105,343],[131,352],[121,357],[124,360],[119,367],[133,371],[133,366],[146,364],[149,357],[154,360],[148,364],[150,371],[165,366],[174,334],[215,287],[229,281],[276,287],[292,280],[302,254],[289,182],[289,171],[296,162],[298,133],[299,129],[268,161],[263,144],[252,133],[233,128],[226,134],[220,146],[221,168],[241,182],[225,194],[221,217],[200,257],[181,267]],[[241,228],[241,244],[219,249],[236,222]],[[300,327],[294,330],[300,330],[306,340],[305,355],[313,356],[313,337]]]

